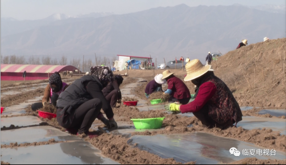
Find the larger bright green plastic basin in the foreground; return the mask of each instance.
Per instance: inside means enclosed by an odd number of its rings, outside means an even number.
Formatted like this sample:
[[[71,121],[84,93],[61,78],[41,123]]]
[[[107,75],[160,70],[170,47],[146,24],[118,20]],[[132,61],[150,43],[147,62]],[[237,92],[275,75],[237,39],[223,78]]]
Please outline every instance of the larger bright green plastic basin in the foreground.
[[[163,118],[131,119],[136,129],[159,129],[162,127]]]

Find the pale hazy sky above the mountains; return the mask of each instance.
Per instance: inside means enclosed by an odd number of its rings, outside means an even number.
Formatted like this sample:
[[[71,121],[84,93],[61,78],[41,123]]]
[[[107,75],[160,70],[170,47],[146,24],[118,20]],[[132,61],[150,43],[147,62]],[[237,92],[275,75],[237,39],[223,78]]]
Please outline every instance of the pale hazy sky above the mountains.
[[[54,13],[66,15],[88,14],[92,12],[114,12],[125,14],[154,7],[179,4],[198,5],[286,5],[285,0],[1,0],[1,17],[15,19],[43,19]]]

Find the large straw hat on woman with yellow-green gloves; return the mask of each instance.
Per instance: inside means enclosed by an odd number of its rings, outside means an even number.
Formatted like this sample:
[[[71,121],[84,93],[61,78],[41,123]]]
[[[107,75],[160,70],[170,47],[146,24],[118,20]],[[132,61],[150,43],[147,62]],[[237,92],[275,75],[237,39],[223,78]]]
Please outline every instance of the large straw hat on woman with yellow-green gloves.
[[[198,78],[209,70],[214,71],[210,65],[202,65],[198,59],[193,59],[192,61],[188,62],[185,67],[187,76],[184,78],[184,81],[190,81]]]

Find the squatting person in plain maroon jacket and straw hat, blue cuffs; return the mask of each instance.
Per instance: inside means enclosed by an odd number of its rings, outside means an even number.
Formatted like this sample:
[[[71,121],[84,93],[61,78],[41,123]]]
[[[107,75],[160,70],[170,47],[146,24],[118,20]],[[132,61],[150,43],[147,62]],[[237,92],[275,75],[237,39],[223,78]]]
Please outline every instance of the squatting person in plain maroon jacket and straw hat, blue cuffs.
[[[188,104],[191,98],[190,91],[186,84],[174,76],[169,70],[163,72],[162,80],[165,79],[168,82],[168,89],[164,94],[171,95],[168,102],[180,102],[180,104]]]

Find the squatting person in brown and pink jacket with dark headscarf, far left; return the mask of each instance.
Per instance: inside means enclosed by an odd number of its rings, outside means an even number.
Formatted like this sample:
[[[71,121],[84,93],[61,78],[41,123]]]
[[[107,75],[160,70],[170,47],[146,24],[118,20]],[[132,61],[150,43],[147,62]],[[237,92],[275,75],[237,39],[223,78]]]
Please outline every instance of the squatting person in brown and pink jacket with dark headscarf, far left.
[[[59,72],[55,72],[49,77],[49,84],[47,84],[44,92],[44,97],[41,103],[32,104],[31,108],[33,111],[39,110],[47,104],[56,105],[59,94],[67,89],[69,85],[61,81],[61,75]]]

